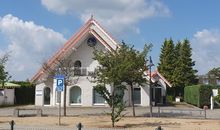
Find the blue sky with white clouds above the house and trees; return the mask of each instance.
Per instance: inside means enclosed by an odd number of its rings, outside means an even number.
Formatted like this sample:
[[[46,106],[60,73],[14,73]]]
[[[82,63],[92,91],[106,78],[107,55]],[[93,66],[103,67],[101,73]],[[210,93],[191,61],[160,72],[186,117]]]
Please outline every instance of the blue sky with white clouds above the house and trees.
[[[91,14],[119,42],[159,61],[165,38],[191,41],[198,74],[220,66],[219,0],[0,0],[0,55],[10,52],[12,79],[30,79]]]

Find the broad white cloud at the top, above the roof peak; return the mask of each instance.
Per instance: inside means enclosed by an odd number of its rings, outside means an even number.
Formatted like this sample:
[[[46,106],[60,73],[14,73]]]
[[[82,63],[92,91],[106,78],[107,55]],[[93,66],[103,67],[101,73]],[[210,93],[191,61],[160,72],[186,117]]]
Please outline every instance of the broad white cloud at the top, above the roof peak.
[[[82,21],[91,14],[112,33],[136,32],[136,24],[154,16],[169,16],[169,9],[159,0],[41,0],[49,11],[78,15]]]

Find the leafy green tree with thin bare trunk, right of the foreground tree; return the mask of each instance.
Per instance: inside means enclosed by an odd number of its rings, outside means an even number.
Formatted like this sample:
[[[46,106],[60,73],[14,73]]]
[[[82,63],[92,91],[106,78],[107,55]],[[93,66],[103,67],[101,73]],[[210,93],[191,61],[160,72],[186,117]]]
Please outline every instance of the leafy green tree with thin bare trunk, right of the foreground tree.
[[[145,44],[142,52],[137,51],[133,47],[129,47],[123,43],[121,47],[122,55],[124,55],[124,63],[126,64],[126,72],[123,75],[123,81],[126,82],[131,89],[131,105],[133,116],[135,116],[134,107],[134,86],[146,83],[143,73],[146,71],[147,55],[152,48],[152,44]]]

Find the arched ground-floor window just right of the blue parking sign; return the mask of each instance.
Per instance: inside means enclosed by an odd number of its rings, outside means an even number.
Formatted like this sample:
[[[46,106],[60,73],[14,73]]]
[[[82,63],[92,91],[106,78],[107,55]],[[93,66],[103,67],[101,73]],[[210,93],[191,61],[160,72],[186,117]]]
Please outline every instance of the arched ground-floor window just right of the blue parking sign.
[[[81,104],[82,91],[79,86],[70,88],[70,104]]]

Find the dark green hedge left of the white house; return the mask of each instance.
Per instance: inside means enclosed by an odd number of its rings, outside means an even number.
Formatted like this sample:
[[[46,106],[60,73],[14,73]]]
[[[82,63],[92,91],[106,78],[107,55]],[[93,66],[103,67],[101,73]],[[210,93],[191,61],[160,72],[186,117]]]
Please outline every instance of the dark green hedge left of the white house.
[[[35,86],[23,81],[13,81],[13,83],[21,85],[21,87],[15,88],[15,105],[34,104]]]

